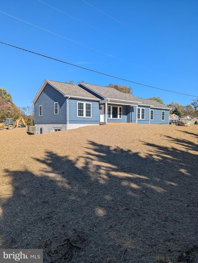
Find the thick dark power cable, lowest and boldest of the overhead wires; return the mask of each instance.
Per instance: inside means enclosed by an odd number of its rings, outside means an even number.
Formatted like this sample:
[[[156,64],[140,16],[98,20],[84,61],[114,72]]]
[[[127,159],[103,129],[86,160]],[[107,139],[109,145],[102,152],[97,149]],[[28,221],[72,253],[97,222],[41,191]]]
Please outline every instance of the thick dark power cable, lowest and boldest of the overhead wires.
[[[33,54],[36,54],[36,55],[39,55],[39,56],[42,56],[42,57],[45,57],[45,58],[50,58],[50,59],[53,59],[53,60],[56,60],[56,61],[59,61],[59,62],[68,64],[68,65],[74,66],[74,67],[79,67],[79,68],[82,68],[82,69],[85,69],[85,70],[89,70],[89,71],[92,71],[92,72],[95,72],[95,73],[98,73],[98,74],[102,74],[102,75],[105,75],[105,76],[109,76],[109,77],[112,77],[112,78],[115,78],[115,79],[118,79],[118,80],[124,80],[124,81],[130,82],[130,83],[142,85],[142,86],[145,86],[145,87],[156,88],[156,89],[160,89],[160,90],[163,90],[163,91],[172,92],[172,93],[177,93],[177,94],[181,94],[181,95],[186,95],[186,96],[191,96],[191,97],[198,97],[198,96],[195,96],[195,95],[189,95],[189,94],[184,94],[184,93],[180,93],[180,92],[176,92],[176,91],[171,91],[171,90],[167,90],[167,89],[163,89],[163,88],[153,87],[153,86],[146,85],[146,84],[142,84],[142,83],[138,83],[138,82],[135,82],[135,81],[132,81],[132,80],[126,80],[126,79],[119,78],[119,77],[116,77],[116,76],[113,76],[113,75],[109,75],[109,74],[106,74],[106,73],[103,73],[103,72],[100,72],[100,71],[96,71],[96,70],[89,69],[89,68],[86,68],[86,67],[81,67],[81,66],[78,66],[78,65],[75,65],[75,64],[72,64],[72,63],[63,61],[63,60],[59,60],[59,59],[57,59],[57,58],[52,58],[52,57],[49,57],[49,56],[46,56],[46,55],[43,55],[43,54],[39,54],[39,53],[37,53],[37,52],[33,52],[33,51],[31,51],[31,50],[27,50],[27,49],[24,49],[24,48],[21,48],[21,47],[17,47],[17,46],[14,46],[14,45],[11,45],[11,44],[2,42],[2,41],[0,41],[0,43],[5,44],[5,45],[8,45],[8,46],[11,46],[11,47],[14,47],[14,48],[18,48],[18,49],[20,49],[20,50],[24,50],[24,51],[27,51],[27,52],[30,52],[30,53],[33,53]]]

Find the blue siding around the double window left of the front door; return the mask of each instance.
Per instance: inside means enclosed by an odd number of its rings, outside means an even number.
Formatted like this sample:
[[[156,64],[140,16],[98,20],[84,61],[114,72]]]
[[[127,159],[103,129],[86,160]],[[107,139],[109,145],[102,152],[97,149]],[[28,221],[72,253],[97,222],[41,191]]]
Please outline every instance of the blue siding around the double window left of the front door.
[[[100,110],[99,101],[90,101],[70,98],[69,100],[69,123],[99,124]],[[92,104],[92,117],[78,117],[77,102],[88,102]]]

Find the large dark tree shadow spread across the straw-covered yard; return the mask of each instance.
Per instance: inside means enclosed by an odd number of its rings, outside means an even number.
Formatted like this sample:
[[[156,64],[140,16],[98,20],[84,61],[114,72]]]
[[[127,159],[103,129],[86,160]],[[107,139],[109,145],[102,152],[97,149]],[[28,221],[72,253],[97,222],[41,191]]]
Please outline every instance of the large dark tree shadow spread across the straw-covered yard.
[[[89,141],[72,160],[34,158],[35,173],[5,170],[2,248],[43,248],[57,263],[176,262],[198,243],[197,144],[177,143],[186,150],[147,143],[143,157]]]

